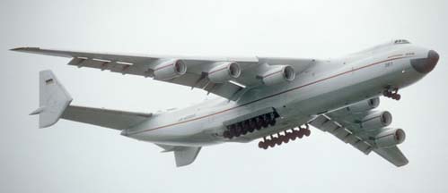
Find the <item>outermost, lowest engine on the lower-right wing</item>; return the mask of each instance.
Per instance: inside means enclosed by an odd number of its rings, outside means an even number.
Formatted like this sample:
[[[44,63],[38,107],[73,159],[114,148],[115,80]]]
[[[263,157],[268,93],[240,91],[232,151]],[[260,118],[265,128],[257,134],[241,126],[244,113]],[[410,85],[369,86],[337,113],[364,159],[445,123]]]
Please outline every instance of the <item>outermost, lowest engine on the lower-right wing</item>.
[[[375,137],[375,144],[378,148],[393,147],[403,143],[406,133],[401,129],[386,129]]]

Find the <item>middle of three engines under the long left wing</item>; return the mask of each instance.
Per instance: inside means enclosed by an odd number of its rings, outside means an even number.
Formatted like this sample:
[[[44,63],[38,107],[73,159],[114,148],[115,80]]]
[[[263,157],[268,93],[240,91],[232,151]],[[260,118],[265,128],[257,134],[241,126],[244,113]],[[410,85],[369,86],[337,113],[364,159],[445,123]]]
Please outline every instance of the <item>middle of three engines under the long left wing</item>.
[[[223,83],[228,80],[237,79],[242,74],[238,63],[219,63],[208,71],[208,80],[214,83]]]

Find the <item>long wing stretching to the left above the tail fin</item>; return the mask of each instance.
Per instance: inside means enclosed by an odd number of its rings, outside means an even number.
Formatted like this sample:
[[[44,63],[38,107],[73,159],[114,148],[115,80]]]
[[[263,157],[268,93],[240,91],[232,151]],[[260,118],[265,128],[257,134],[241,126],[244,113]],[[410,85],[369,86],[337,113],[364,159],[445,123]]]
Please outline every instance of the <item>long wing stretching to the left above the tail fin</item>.
[[[12,50],[72,58],[69,65],[151,77],[190,88],[201,88],[207,93],[223,96],[229,100],[236,100],[237,96],[243,93],[244,88],[259,86],[262,83],[263,74],[271,70],[277,71],[275,67],[278,65],[290,65],[295,73],[300,73],[312,63],[316,63],[313,59],[273,57],[205,58],[121,55],[40,49],[39,47],[19,47]]]

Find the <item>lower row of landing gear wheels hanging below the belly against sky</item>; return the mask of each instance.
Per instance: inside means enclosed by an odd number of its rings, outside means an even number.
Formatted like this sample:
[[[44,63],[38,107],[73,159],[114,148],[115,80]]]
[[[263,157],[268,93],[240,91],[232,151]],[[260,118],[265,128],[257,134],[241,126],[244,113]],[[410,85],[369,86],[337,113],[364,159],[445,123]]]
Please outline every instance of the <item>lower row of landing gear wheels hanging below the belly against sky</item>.
[[[288,143],[290,140],[294,140],[295,138],[303,138],[303,136],[310,136],[311,130],[308,124],[304,126],[298,127],[299,130],[291,129],[291,131],[285,130],[283,131],[285,135],[281,135],[277,133],[277,137],[273,135],[269,136],[270,138],[264,137],[262,141],[259,142],[259,148],[268,149],[268,147],[275,147],[282,145],[282,143]]]

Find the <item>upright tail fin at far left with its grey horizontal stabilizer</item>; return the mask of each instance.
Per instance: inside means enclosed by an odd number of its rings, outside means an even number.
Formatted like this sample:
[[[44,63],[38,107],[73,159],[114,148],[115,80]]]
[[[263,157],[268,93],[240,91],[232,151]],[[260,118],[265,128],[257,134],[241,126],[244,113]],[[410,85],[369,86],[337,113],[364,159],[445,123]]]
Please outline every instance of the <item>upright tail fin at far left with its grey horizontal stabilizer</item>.
[[[62,118],[115,130],[125,130],[152,116],[152,113],[133,113],[70,105],[72,97],[51,71],[40,71],[39,84],[40,107],[31,115],[39,114],[40,128],[49,127]]]

